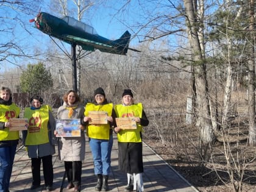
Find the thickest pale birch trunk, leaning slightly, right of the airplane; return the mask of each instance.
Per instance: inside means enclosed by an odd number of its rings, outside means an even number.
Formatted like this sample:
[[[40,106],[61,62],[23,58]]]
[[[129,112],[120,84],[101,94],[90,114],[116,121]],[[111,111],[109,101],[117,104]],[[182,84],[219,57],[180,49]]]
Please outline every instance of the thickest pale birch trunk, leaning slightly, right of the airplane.
[[[196,126],[201,133],[201,141],[211,144],[215,141],[212,122],[210,118],[210,107],[208,99],[208,84],[206,78],[205,63],[203,62],[202,49],[199,42],[198,27],[196,22],[196,1],[183,0],[185,13],[187,15],[188,37],[190,38],[192,57],[194,61],[194,77],[196,85]],[[193,4],[194,2],[194,4]]]

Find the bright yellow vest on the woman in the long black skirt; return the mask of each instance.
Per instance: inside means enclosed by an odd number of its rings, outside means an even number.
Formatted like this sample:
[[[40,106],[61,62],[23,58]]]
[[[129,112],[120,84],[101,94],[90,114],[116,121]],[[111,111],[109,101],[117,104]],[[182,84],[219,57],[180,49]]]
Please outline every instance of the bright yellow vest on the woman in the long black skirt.
[[[115,105],[115,112],[118,118],[124,117],[139,117],[142,116],[143,106],[141,103],[132,104],[129,106],[119,104]],[[118,132],[118,141],[119,142],[132,142],[139,143],[141,142],[140,132],[142,130],[142,126],[137,123],[137,129],[132,130],[121,130]]]

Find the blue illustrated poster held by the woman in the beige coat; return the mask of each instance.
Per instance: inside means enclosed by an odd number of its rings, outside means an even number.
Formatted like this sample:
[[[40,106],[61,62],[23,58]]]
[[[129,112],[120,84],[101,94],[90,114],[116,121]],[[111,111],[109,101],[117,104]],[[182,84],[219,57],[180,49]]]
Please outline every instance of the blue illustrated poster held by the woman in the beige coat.
[[[56,137],[80,137],[80,119],[55,119]]]

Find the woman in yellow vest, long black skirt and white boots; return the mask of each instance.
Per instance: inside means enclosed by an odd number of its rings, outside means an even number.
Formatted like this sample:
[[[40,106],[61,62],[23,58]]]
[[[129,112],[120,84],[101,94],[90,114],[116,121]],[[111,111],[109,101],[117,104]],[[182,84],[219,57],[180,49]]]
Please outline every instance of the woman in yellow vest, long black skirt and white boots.
[[[128,185],[125,191],[143,191],[143,158],[142,158],[142,126],[148,126],[149,121],[141,103],[133,103],[130,89],[124,90],[122,104],[115,105],[118,118],[134,117],[137,129],[121,129],[115,127],[118,137],[119,169],[127,173]]]

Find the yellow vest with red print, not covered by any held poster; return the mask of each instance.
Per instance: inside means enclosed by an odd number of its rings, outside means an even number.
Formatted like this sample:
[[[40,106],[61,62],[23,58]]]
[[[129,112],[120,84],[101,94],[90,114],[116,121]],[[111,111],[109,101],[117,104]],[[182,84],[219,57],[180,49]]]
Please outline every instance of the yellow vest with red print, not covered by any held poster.
[[[48,105],[41,105],[41,107],[36,110],[31,110],[30,107],[25,108],[24,118],[29,119],[25,145],[49,143],[49,110],[51,110],[51,108]]]

